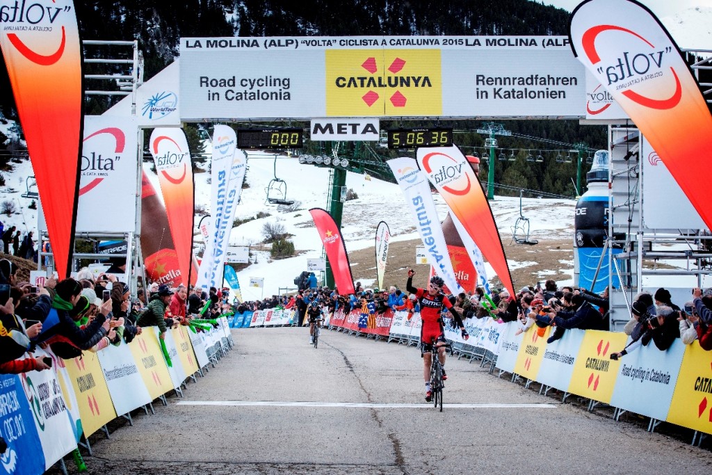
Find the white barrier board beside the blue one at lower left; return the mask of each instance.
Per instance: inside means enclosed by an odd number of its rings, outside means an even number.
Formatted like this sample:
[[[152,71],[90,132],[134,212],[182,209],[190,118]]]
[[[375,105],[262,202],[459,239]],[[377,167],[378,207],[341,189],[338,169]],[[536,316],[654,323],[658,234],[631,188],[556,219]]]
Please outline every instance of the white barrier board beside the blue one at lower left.
[[[38,349],[36,356],[47,355]],[[45,470],[77,448],[72,427],[73,417],[67,409],[63,388],[55,370],[23,372],[20,377],[33,421],[45,456]],[[66,391],[73,391],[69,386]],[[31,424],[31,422],[26,421]]]

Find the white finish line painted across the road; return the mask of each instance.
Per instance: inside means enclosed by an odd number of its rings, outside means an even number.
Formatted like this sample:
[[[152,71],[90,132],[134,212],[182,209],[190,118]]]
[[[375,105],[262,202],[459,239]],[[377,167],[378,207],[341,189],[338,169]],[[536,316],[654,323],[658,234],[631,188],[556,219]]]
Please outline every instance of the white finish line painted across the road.
[[[370,402],[299,402],[299,401],[179,401],[179,406],[239,406],[239,407],[367,407],[375,409],[411,409],[433,407],[424,404],[375,404]],[[448,404],[451,409],[555,409],[557,404]]]

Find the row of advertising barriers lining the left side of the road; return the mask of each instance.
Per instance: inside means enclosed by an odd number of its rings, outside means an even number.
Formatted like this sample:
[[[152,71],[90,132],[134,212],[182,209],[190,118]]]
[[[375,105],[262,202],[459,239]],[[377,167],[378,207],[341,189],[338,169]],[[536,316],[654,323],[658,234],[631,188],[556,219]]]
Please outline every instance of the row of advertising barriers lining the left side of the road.
[[[187,382],[197,382],[234,346],[226,317],[208,331],[169,329],[164,343],[169,362],[154,326],[128,345],[85,351],[71,360],[37,348],[34,355],[50,357],[51,369],[0,375],[0,427],[10,446],[2,465],[14,466],[10,473],[33,475],[59,462],[67,474],[65,456],[78,447],[92,455],[90,436],[103,431],[108,439],[113,419],[132,426],[135,409],[155,414],[155,400],[167,406],[170,392],[183,397]]]

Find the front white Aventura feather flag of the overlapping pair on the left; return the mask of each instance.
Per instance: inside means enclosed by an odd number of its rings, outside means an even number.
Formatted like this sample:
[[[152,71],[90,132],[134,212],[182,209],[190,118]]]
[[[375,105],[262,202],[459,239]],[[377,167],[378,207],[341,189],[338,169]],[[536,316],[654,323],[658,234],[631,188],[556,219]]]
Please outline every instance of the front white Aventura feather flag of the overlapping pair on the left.
[[[225,262],[227,217],[237,205],[235,193],[228,194],[231,167],[237,137],[227,125],[215,125],[213,130],[213,156],[210,163],[210,222],[205,251],[200,263],[197,285],[202,288],[217,287],[222,283]],[[232,221],[230,221],[230,228]],[[218,275],[219,274],[219,279]]]

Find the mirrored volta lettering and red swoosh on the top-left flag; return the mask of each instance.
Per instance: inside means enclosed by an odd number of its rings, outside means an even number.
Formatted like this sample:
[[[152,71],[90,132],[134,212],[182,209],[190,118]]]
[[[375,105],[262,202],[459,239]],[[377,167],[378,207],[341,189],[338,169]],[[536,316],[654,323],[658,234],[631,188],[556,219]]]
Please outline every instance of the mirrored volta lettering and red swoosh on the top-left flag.
[[[52,3],[54,4],[54,0]],[[16,0],[14,4],[0,6],[0,23],[9,24],[2,28],[3,31],[53,33],[55,22],[62,23],[62,21],[57,21],[58,18],[61,18],[59,15],[70,11],[72,11],[72,6],[70,5],[45,6],[40,2],[28,4],[26,0]],[[56,44],[56,49],[53,48],[53,53],[48,55],[34,51],[16,33],[7,33],[7,39],[29,61],[40,66],[51,66],[63,56],[67,43],[64,25],[61,26],[61,29],[61,38],[56,38],[56,41],[42,39],[43,44]],[[56,36],[56,34],[53,36]]]

